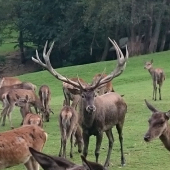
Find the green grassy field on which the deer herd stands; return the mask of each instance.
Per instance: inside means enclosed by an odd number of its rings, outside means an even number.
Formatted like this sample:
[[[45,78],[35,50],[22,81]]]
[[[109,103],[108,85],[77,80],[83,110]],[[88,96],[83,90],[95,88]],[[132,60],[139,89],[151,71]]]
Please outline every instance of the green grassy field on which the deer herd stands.
[[[152,101],[152,81],[147,70],[144,70],[144,62],[154,60],[155,67],[164,68],[166,81],[162,88],[162,101]],[[110,73],[115,67],[115,61],[100,62],[88,65],[79,65],[57,69],[58,72],[67,76],[79,77],[87,82],[91,82],[93,75],[100,73],[106,68],[106,73]],[[19,77],[23,81],[35,83],[38,87],[47,84],[52,91],[51,107],[55,114],[51,115],[50,122],[44,123],[44,129],[48,132],[48,141],[43,149],[44,153],[58,155],[60,147],[60,131],[58,126],[58,113],[62,107],[63,94],[62,83],[52,77],[47,71],[25,74]],[[151,143],[145,143],[143,136],[148,129],[148,118],[150,111],[146,108],[144,99],[147,99],[155,107],[163,111],[170,109],[170,51],[133,57],[128,60],[124,73],[113,80],[115,91],[124,94],[128,105],[123,134],[124,134],[124,153],[126,166],[124,170],[165,170],[170,168],[170,153],[164,148],[160,140],[156,139]],[[15,108],[12,114],[12,120],[15,127],[18,127],[21,121],[21,115],[18,108]],[[0,127],[0,131],[9,130],[7,121],[5,127]],[[111,155],[110,170],[118,170],[120,166],[120,145],[117,131],[113,128],[114,149]],[[106,158],[108,140],[104,135],[100,153],[100,163],[103,164]],[[91,136],[89,144],[89,154],[87,159],[94,161],[95,137]],[[67,157],[69,158],[69,145],[67,147]],[[74,158],[71,161],[81,164],[80,155],[77,148],[74,148]],[[23,166],[16,166],[10,170],[21,170]]]

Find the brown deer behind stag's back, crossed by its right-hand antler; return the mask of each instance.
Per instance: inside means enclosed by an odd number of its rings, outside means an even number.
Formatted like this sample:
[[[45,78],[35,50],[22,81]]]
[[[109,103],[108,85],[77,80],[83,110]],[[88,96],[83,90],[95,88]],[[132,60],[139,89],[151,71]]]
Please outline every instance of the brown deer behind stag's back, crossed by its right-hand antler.
[[[92,85],[96,84],[96,82],[101,78],[105,78],[107,75],[106,74],[96,74],[93,77],[93,81],[92,81]],[[99,86],[97,89],[95,89],[96,93],[100,96],[109,92],[114,92],[113,86],[112,86],[112,82],[108,82],[106,84],[103,84],[101,86]]]

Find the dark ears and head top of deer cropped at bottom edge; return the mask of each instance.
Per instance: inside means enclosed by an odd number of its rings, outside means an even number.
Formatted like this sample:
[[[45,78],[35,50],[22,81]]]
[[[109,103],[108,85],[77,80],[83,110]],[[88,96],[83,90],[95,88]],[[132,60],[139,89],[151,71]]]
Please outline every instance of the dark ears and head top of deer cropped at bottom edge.
[[[106,170],[98,163],[87,161],[84,156],[81,156],[83,165],[76,165],[65,158],[46,155],[31,147],[29,150],[44,170]]]

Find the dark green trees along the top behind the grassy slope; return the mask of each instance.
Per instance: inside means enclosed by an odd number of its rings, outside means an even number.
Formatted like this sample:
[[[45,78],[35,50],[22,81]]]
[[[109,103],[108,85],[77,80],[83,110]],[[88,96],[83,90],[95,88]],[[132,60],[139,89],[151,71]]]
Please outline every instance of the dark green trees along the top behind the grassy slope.
[[[2,42],[7,30],[18,32],[22,63],[46,40],[55,41],[55,67],[112,59],[107,37],[130,56],[154,53],[170,49],[170,1],[0,0]]]

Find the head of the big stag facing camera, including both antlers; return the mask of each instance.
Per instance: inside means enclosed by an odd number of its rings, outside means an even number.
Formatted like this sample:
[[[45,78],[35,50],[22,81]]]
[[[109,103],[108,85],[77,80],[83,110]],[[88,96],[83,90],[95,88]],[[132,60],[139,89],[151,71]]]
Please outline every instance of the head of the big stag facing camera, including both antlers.
[[[37,50],[36,50],[36,58],[32,57],[32,60],[34,62],[40,64],[42,67],[46,68],[58,80],[68,83],[68,84],[72,85],[73,87],[75,87],[75,89],[74,89],[74,91],[72,91],[72,93],[80,94],[82,97],[82,101],[84,102],[84,105],[86,107],[86,111],[89,113],[92,113],[96,110],[96,107],[94,105],[94,97],[96,96],[94,90],[97,89],[98,87],[100,87],[101,85],[106,84],[107,82],[110,82],[113,78],[119,76],[124,71],[124,69],[126,67],[126,61],[128,59],[128,55],[129,55],[127,46],[126,46],[126,57],[124,57],[123,53],[121,52],[117,43],[115,41],[112,41],[110,38],[109,38],[109,40],[116,50],[117,61],[118,61],[117,67],[110,74],[108,74],[106,77],[103,77],[103,74],[101,74],[101,77],[92,85],[85,86],[79,80],[78,80],[78,82],[72,81],[71,79],[68,79],[68,78],[62,76],[60,73],[58,73],[56,70],[53,69],[53,67],[51,66],[49,57],[50,57],[52,48],[54,46],[54,42],[51,44],[51,47],[48,52],[46,52],[47,42],[44,46],[43,58],[44,58],[45,63],[43,63],[40,60]]]

